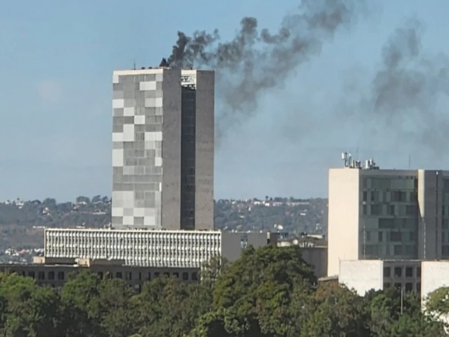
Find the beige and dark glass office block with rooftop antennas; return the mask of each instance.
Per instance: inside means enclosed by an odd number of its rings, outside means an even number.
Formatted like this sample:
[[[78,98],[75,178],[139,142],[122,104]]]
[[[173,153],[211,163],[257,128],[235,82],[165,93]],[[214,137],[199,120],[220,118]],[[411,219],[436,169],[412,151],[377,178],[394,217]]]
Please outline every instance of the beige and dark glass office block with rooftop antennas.
[[[340,260],[449,258],[449,171],[344,159],[329,171],[329,276]]]

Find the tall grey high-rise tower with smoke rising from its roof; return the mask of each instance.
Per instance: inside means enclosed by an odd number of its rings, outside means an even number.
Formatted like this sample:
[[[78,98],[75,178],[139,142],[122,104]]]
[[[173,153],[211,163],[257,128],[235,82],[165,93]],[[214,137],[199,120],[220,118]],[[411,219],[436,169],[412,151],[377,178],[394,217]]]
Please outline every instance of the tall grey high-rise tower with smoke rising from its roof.
[[[214,73],[113,74],[112,227],[213,228]]]

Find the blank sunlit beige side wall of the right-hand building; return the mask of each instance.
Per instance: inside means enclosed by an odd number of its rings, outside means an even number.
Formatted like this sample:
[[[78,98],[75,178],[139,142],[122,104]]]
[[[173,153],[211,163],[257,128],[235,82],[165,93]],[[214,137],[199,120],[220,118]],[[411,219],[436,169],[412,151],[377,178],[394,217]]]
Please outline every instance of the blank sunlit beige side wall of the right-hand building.
[[[328,276],[338,275],[340,260],[358,259],[359,173],[329,170]]]

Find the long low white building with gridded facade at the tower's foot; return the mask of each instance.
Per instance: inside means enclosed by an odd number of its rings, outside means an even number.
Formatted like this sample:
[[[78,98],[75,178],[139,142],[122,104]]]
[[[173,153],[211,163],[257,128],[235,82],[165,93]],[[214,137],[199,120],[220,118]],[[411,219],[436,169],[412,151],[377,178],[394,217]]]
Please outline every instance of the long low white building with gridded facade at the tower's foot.
[[[48,228],[44,235],[44,256],[55,263],[81,258],[166,268],[201,268],[215,256],[232,262],[246,246],[277,244],[269,232]]]

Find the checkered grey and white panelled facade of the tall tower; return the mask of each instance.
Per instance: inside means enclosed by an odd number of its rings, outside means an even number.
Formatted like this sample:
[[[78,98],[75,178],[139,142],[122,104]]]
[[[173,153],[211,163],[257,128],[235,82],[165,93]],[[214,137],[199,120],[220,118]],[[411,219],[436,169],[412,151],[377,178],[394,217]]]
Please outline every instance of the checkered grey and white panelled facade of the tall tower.
[[[113,79],[113,227],[161,226],[163,74]]]

